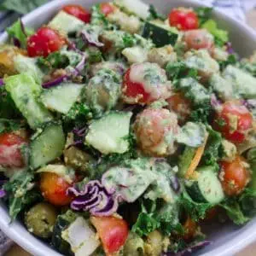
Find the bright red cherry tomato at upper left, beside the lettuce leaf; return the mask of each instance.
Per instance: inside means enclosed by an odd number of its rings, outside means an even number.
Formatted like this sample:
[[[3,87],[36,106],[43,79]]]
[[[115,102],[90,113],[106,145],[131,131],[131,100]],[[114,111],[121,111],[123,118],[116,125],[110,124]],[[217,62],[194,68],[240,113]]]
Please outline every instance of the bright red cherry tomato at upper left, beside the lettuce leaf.
[[[61,49],[65,43],[65,39],[58,32],[46,26],[41,27],[28,38],[27,53],[30,57],[47,57],[50,53]]]

